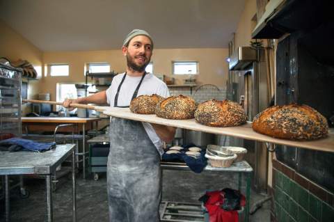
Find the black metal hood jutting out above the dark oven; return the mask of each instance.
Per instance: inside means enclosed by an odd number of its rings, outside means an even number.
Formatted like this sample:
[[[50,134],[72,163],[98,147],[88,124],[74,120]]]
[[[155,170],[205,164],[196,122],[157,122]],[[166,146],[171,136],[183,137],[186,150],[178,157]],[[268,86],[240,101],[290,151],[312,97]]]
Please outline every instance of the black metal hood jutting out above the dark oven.
[[[285,33],[308,31],[334,21],[332,1],[269,1],[266,12],[255,27],[252,38],[280,38]]]

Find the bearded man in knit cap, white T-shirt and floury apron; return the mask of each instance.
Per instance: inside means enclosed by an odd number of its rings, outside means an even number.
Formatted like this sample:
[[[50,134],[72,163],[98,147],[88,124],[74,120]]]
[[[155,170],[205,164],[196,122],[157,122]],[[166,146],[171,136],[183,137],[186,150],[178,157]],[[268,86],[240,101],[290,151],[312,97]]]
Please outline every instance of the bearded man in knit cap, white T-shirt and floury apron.
[[[138,95],[155,93],[168,97],[166,84],[145,72],[152,49],[150,35],[134,29],[122,46],[122,54],[127,58],[127,72],[114,77],[106,91],[77,100],[65,100],[63,106],[108,102],[110,106],[129,107],[131,100]],[[175,128],[121,118],[111,118],[109,128],[109,221],[159,221],[162,141],[173,140]]]

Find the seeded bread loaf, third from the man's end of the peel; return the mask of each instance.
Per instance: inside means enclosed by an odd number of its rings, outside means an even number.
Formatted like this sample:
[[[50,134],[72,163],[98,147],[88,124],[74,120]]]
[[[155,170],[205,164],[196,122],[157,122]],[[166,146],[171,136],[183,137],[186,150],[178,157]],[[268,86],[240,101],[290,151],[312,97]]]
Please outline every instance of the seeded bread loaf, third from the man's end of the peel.
[[[237,102],[208,100],[198,105],[195,120],[209,127],[233,127],[246,123],[247,116]]]

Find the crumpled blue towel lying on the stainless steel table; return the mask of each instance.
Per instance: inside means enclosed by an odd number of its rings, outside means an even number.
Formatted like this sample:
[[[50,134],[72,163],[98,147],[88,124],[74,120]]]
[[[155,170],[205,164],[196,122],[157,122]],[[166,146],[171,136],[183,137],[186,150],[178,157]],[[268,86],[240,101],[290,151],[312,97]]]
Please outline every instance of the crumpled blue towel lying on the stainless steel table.
[[[56,147],[56,143],[38,143],[35,141],[31,141],[29,139],[24,138],[8,138],[6,140],[0,141],[0,145],[19,145],[22,147],[22,150],[33,150],[37,152],[43,152],[47,150],[51,150],[52,148]],[[17,150],[15,150],[17,151]]]

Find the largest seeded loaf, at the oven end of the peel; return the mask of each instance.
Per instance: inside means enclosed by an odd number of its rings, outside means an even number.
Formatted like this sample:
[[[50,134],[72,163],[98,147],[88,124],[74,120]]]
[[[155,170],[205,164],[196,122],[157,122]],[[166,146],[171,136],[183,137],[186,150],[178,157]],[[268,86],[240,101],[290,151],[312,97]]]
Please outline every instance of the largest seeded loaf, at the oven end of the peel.
[[[271,106],[258,113],[253,129],[260,134],[292,140],[312,140],[327,136],[326,118],[307,105]]]

